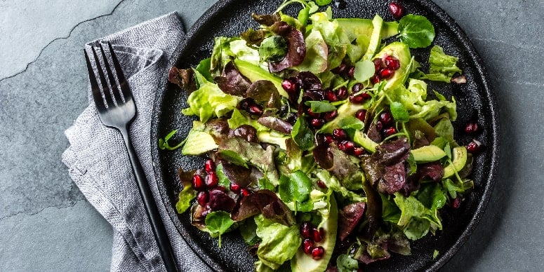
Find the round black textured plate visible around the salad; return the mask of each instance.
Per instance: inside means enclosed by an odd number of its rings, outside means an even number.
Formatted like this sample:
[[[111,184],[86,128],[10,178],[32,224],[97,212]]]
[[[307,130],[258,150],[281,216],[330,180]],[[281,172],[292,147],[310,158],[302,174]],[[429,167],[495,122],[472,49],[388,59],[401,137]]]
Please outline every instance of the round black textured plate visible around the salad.
[[[339,10],[333,7],[335,18],[372,18],[378,13],[385,20],[393,20],[387,11],[390,1],[383,0],[347,0],[347,8]],[[496,101],[489,86],[482,60],[476,53],[467,36],[441,8],[431,1],[397,1],[406,8],[407,13],[426,16],[434,25],[437,36],[434,43],[442,46],[446,53],[459,57],[459,66],[467,76],[467,84],[430,83],[429,90],[439,90],[446,97],[455,95],[458,102],[458,120],[455,122],[456,139],[460,144],[470,142],[472,137],[481,140],[486,149],[476,156],[475,190],[457,210],[444,212],[444,231],[437,236],[427,236],[412,243],[411,256],[394,256],[387,261],[371,264],[365,271],[420,271],[437,270],[448,261],[463,245],[475,229],[491,196],[498,162],[498,114]],[[209,57],[215,36],[237,36],[248,27],[258,27],[251,20],[251,13],[271,13],[281,1],[270,0],[225,0],[212,6],[194,24],[187,33],[182,45],[177,65],[181,68],[194,67],[199,60]],[[291,7],[293,8],[293,7]],[[296,7],[298,8],[298,7]],[[288,11],[292,10],[287,10]],[[291,13],[293,15],[293,13]],[[425,62],[428,48],[413,50],[418,60]],[[223,247],[218,248],[217,240],[198,231],[190,224],[189,215],[175,212],[177,193],[180,184],[177,178],[178,168],[192,169],[201,167],[203,159],[184,157],[179,151],[162,151],[157,147],[157,139],[164,137],[173,129],[179,129],[176,139],[183,140],[191,128],[191,118],[180,114],[180,109],[187,107],[186,96],[182,90],[168,83],[166,90],[157,95],[154,104],[152,125],[152,155],[154,170],[167,210],[182,236],[190,247],[211,268],[217,271],[252,271],[255,259],[246,252],[246,245],[237,233],[223,237]],[[478,118],[483,131],[468,137],[463,133],[463,124],[472,118]],[[432,259],[434,250],[439,256]]]

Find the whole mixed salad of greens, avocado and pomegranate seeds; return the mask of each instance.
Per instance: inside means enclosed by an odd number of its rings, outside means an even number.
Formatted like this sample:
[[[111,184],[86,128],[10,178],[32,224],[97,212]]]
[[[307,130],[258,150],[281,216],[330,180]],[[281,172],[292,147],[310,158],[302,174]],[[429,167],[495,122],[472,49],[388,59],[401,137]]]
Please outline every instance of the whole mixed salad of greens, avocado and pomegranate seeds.
[[[282,12],[291,4],[298,15]],[[195,121],[159,147],[206,157],[179,170],[176,209],[218,247],[239,233],[256,271],[357,271],[411,254],[474,186],[482,146],[456,142],[455,97],[427,90],[466,82],[458,58],[432,45],[432,23],[395,3],[398,21],[333,18],[319,8],[329,4],[253,14],[258,29],[216,37],[210,57],[169,75]]]

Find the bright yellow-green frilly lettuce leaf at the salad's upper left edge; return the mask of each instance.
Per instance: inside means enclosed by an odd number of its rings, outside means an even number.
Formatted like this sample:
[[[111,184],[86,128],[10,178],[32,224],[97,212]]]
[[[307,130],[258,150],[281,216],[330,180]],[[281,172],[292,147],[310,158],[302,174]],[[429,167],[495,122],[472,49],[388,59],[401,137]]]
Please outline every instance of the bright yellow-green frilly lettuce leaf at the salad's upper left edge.
[[[198,71],[195,70],[194,73],[200,76],[204,82],[200,84],[198,90],[195,90],[187,97],[189,107],[181,111],[183,114],[196,115],[201,122],[206,123],[213,116],[225,116],[241,100],[241,97],[223,93],[217,84],[206,81]]]

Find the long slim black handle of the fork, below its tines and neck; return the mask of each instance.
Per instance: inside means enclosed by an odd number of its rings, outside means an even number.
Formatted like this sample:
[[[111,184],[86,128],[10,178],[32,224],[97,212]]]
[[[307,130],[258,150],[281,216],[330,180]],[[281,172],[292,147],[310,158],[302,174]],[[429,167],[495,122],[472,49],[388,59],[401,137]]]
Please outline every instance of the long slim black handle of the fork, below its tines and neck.
[[[166,266],[166,271],[178,271],[178,268],[175,265],[174,254],[170,239],[168,238],[168,233],[166,233],[166,229],[164,228],[164,223],[162,222],[161,214],[157,208],[157,203],[155,203],[153,198],[150,184],[147,182],[140,160],[138,160],[138,156],[136,156],[131,138],[128,137],[128,130],[124,127],[119,129],[119,131],[121,132],[121,135],[123,135],[126,151],[128,151],[128,159],[131,161],[136,184],[138,184],[138,191],[140,191],[140,196],[142,196],[145,213],[147,213],[147,217],[150,219],[151,229],[153,230],[157,245],[159,246],[159,252],[164,261],[164,266]]]

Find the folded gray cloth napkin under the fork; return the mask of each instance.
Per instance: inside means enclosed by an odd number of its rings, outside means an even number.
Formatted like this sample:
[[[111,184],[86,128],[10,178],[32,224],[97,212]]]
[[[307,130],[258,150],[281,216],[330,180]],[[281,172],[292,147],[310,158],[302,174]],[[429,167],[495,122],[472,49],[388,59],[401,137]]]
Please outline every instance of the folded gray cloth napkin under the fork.
[[[166,84],[184,35],[177,14],[171,13],[88,43],[86,49],[106,41],[112,43],[136,102],[137,115],[129,134],[159,203],[178,266],[181,271],[208,271],[179,236],[166,207],[161,205],[150,151],[154,97]],[[164,271],[121,134],[102,125],[91,89],[87,92],[89,106],[65,131],[70,147],[62,154],[62,161],[87,200],[113,226],[111,270]]]

